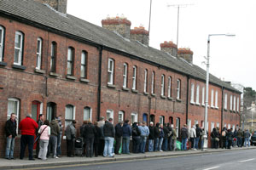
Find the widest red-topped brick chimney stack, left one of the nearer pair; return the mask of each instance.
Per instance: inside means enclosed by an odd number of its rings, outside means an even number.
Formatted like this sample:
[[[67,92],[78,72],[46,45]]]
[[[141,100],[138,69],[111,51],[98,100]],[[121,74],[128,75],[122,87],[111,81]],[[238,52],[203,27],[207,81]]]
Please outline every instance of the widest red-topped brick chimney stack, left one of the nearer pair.
[[[109,31],[116,31],[122,37],[130,39],[131,21],[127,20],[125,17],[108,17],[106,20],[102,20],[102,27]]]

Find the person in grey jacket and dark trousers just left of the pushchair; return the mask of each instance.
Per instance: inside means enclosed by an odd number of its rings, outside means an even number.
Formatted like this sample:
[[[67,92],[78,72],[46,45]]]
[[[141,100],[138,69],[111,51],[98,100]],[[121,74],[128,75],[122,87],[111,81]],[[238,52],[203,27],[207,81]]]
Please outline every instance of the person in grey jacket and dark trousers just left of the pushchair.
[[[76,121],[72,121],[69,125],[67,125],[65,134],[67,137],[67,157],[73,157],[74,153],[74,140],[76,139],[77,129],[75,127]]]

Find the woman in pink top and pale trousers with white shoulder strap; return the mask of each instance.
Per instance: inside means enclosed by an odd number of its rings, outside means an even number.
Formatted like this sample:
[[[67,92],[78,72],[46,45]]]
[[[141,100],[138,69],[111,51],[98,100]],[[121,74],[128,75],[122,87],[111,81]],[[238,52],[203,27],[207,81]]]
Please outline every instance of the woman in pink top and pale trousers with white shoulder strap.
[[[38,159],[46,160],[47,150],[48,150],[48,144],[49,144],[49,136],[50,136],[50,127],[49,127],[49,121],[45,120],[44,125],[42,125],[38,133],[40,133],[40,143],[39,143],[39,153],[38,153]]]

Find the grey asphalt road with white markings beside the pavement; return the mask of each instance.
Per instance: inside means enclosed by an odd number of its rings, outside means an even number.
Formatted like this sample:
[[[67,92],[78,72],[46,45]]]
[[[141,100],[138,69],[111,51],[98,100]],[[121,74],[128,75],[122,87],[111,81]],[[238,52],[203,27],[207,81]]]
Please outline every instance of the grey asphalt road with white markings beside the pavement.
[[[96,164],[42,167],[52,170],[256,170],[256,150],[234,150],[190,156],[172,156],[132,161],[112,161]]]

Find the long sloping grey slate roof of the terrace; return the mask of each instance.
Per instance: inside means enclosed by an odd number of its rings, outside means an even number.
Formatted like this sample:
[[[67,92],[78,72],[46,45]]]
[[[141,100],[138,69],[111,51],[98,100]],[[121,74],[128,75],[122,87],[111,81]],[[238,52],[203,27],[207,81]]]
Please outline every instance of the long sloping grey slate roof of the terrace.
[[[158,65],[165,66],[174,71],[199,78],[206,79],[206,71],[197,65],[187,63],[184,59],[175,57],[155,48],[146,47],[140,42],[127,40],[113,31],[108,31],[100,26],[93,25],[70,14],[60,14],[49,6],[34,2],[33,0],[0,0],[0,14],[8,14],[22,18],[29,22],[46,26],[56,31],[65,32],[86,41],[100,44],[104,47],[113,48],[125,54],[131,54],[138,59],[145,59]],[[18,20],[19,21],[19,20]],[[210,75],[210,83],[240,93],[230,86]]]

